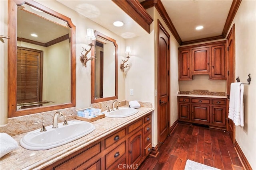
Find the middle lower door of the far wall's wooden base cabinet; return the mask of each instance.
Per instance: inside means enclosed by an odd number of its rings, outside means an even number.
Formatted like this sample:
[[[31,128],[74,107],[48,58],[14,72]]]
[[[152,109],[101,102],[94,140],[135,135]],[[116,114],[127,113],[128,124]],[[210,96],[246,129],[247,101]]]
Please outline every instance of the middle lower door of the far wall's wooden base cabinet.
[[[192,104],[192,121],[196,123],[209,124],[210,123],[210,106]]]

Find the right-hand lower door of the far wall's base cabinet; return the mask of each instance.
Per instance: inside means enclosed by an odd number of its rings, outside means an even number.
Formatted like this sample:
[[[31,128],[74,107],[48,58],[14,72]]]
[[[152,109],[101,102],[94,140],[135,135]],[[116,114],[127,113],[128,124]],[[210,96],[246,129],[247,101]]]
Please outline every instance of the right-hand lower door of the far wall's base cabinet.
[[[225,110],[226,107],[212,106],[212,125],[226,125]]]

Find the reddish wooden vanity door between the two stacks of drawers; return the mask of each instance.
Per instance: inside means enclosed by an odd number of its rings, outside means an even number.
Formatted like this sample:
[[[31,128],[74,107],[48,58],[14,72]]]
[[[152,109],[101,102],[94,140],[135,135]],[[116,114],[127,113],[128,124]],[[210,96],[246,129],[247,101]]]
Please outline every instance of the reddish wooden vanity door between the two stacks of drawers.
[[[136,165],[143,156],[142,129],[128,139],[128,163]]]

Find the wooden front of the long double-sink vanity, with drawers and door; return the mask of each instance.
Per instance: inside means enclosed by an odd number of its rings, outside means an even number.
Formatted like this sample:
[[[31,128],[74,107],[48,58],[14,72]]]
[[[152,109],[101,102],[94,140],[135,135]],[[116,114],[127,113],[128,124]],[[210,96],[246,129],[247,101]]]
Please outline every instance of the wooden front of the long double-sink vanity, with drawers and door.
[[[151,113],[47,166],[45,170],[137,169],[152,148]]]

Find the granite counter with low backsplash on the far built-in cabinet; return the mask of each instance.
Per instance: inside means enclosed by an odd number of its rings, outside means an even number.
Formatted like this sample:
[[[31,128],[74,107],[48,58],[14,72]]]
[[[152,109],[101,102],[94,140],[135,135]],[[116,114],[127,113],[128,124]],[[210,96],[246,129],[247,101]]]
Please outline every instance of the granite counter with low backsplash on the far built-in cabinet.
[[[177,96],[200,97],[200,98],[223,98],[226,99],[226,92],[209,92],[208,90],[180,91]]]

